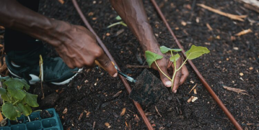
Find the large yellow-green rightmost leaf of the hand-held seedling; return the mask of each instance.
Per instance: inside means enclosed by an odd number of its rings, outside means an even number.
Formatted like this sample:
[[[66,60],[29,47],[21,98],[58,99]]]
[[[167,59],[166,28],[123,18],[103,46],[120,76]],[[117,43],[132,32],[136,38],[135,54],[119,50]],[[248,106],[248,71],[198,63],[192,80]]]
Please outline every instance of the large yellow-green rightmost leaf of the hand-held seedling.
[[[192,45],[192,47],[186,51],[185,54],[187,59],[192,60],[209,52],[210,51],[206,47]]]

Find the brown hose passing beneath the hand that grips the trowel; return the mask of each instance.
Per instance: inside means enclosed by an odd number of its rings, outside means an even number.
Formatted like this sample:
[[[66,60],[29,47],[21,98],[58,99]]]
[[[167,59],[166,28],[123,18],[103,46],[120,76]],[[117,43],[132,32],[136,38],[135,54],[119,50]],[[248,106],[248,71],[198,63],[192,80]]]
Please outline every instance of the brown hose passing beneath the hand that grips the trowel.
[[[109,59],[115,63],[115,65],[118,67],[117,63],[115,62],[115,60],[112,58],[112,55],[110,54],[110,52],[108,51],[108,49],[106,48],[106,46],[103,44],[103,42],[101,41],[101,39],[98,37],[98,35],[94,32],[93,28],[91,27],[91,25],[88,23],[88,21],[86,20],[85,16],[83,15],[80,7],[78,6],[76,0],[72,0],[74,7],[76,8],[76,11],[78,12],[78,14],[80,15],[81,19],[83,20],[84,24],[86,25],[86,27],[96,36],[96,39],[99,43],[99,45],[101,46],[101,48],[104,50],[104,52],[106,53],[106,55],[109,57]],[[120,70],[120,69],[119,69]],[[125,78],[123,78],[121,75],[119,75],[119,78],[121,79],[122,83],[124,84],[126,90],[128,91],[128,93],[131,92],[131,88],[130,85],[128,83],[128,81],[126,81]],[[137,103],[136,101],[132,100],[134,105],[136,106],[140,116],[142,117],[145,125],[147,126],[147,128],[149,130],[153,130],[153,127],[151,125],[151,123],[149,122],[145,112],[143,111],[142,107],[140,106],[139,103]]]

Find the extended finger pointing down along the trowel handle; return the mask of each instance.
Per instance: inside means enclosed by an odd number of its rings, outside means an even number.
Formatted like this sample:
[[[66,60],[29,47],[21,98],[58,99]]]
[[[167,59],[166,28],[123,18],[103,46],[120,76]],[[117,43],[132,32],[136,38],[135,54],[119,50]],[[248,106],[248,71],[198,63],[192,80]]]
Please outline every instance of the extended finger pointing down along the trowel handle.
[[[97,60],[112,77],[116,77],[118,75],[117,70],[115,69],[111,60],[104,53]]]

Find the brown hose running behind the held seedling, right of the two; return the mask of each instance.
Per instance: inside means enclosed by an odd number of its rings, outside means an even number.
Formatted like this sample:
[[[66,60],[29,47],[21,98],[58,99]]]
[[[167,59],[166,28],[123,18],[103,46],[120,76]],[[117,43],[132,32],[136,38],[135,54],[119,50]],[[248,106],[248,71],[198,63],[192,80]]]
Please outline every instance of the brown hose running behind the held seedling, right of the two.
[[[158,7],[157,3],[155,2],[155,0],[151,0],[151,2],[153,3],[153,5],[155,6],[158,14],[160,15],[161,19],[164,21],[166,27],[168,28],[168,30],[170,31],[170,33],[172,34],[172,36],[174,37],[176,44],[178,45],[178,47],[180,49],[182,49],[182,54],[184,55],[184,50],[182,45],[179,43],[179,41],[177,40],[175,34],[173,33],[171,27],[169,26],[169,24],[167,23],[165,16],[163,15],[163,13],[161,12],[160,8]],[[185,56],[186,57],[186,56]],[[197,74],[198,78],[200,79],[200,81],[202,82],[202,84],[205,86],[205,88],[207,89],[207,91],[211,94],[212,98],[216,101],[216,103],[219,105],[219,107],[224,111],[224,113],[227,115],[227,117],[229,117],[229,120],[232,122],[232,124],[236,127],[236,129],[238,130],[243,130],[243,128],[239,125],[239,123],[236,121],[236,119],[233,117],[233,115],[229,112],[229,110],[225,107],[225,105],[222,103],[222,101],[218,98],[218,96],[215,94],[215,92],[211,89],[210,85],[205,81],[205,79],[202,77],[202,75],[200,74],[199,70],[195,67],[195,65],[193,64],[193,62],[191,60],[187,60],[188,63],[190,64],[190,66],[192,67],[193,71]]]

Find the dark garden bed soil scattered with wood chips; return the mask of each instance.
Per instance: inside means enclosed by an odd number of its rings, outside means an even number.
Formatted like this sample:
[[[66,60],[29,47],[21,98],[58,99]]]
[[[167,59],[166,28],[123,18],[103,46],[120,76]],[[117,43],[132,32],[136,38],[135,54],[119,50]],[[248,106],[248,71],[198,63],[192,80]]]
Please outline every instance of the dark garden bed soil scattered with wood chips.
[[[117,22],[115,20],[117,14],[109,2],[107,0],[78,0],[78,2],[87,20],[103,40],[121,70],[133,78],[139,76],[143,68],[126,68],[126,65],[142,65],[145,61],[143,51],[127,27],[118,25],[106,29],[108,25]],[[148,0],[143,2],[160,45],[178,48],[151,2]],[[244,129],[259,129],[259,14],[245,9],[237,1],[157,0],[157,2],[185,50],[191,45],[196,45],[205,46],[211,51],[193,62],[236,120]],[[248,18],[244,22],[231,20],[202,9],[195,3],[195,6],[192,6],[193,2],[203,3],[226,13],[248,15]],[[65,0],[63,5],[58,1],[41,1],[39,12],[57,20],[84,25],[69,0]],[[255,22],[251,23],[253,20]],[[206,24],[213,30],[210,31]],[[233,37],[239,31],[249,28],[252,33]],[[50,56],[57,56],[52,47],[49,45],[46,47]],[[190,66],[186,66],[190,76],[176,94],[170,92],[172,97],[170,102],[142,106],[154,128],[235,129]],[[159,78],[157,71],[148,70]],[[241,72],[243,76],[239,75]],[[189,94],[196,83],[197,94],[193,92]],[[228,91],[222,84],[244,89],[250,96]],[[67,85],[46,86],[48,89],[45,90],[45,98],[51,93],[58,93],[59,96],[56,96],[58,99],[54,104],[48,106],[41,102],[39,96],[40,106],[44,106],[40,109],[54,107],[65,130],[93,127],[100,130],[147,129],[120,79],[110,77],[98,66],[84,69]],[[40,84],[34,87],[40,87]],[[41,89],[37,90],[35,93],[41,92]],[[119,96],[113,97],[119,91],[122,91]],[[191,96],[196,96],[198,99],[187,103]],[[63,112],[65,108],[67,112]],[[123,108],[126,108],[124,114]]]

